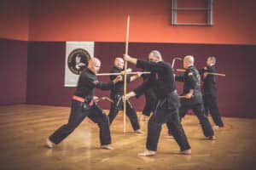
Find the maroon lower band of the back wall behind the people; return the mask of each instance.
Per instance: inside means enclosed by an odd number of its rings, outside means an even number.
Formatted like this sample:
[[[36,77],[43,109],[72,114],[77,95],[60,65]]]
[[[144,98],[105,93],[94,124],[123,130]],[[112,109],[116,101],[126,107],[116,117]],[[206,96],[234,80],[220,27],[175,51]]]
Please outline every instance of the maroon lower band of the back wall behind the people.
[[[208,55],[218,59],[218,72],[226,77],[218,77],[218,105],[224,116],[256,117],[253,98],[255,79],[253,67],[256,59],[256,46],[213,45],[213,44],[173,44],[173,43],[135,43],[129,46],[129,52],[138,58],[147,58],[152,49],[159,49],[166,61],[172,62],[173,56],[195,55],[195,65],[203,67]],[[96,42],[95,56],[102,60],[101,72],[109,71],[116,56],[122,56],[125,44],[122,42]],[[64,88],[65,42],[29,42],[27,102],[40,105],[69,105],[74,88]],[[129,65],[131,66],[131,65]],[[176,67],[182,65],[177,61]],[[100,77],[107,80],[108,77]],[[133,82],[129,88],[135,88],[140,81]],[[178,91],[182,84],[177,83]],[[96,91],[99,96],[109,92]],[[255,93],[254,93],[255,94]],[[136,101],[137,111],[143,108],[143,97]],[[109,109],[108,102],[99,105]]]

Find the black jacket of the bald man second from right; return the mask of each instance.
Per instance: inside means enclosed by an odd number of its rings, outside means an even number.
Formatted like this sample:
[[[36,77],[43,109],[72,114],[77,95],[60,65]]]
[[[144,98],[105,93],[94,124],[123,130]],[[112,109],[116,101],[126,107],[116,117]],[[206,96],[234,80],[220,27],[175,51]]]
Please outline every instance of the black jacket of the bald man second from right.
[[[199,71],[196,70],[195,66],[189,66],[184,72],[183,76],[176,76],[175,80],[177,82],[184,82],[183,84],[183,94],[188,94],[190,89],[194,90],[193,96],[190,99],[181,99],[181,105],[197,105],[202,104],[201,96],[201,77]]]

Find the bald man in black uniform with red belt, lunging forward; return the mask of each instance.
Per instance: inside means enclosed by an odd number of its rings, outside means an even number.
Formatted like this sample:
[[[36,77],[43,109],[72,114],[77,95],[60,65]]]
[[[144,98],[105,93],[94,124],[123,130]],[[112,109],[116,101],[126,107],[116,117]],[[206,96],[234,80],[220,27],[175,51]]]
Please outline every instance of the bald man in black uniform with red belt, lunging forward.
[[[122,77],[116,77],[112,82],[100,82],[96,78],[96,73],[100,70],[100,67],[100,60],[92,58],[89,60],[88,67],[80,74],[78,86],[73,94],[68,122],[59,127],[46,140],[46,144],[49,148],[53,148],[55,144],[61,143],[61,141],[67,138],[67,136],[79,126],[80,122],[88,116],[93,122],[96,122],[100,128],[101,148],[113,150],[110,146],[111,136],[108,116],[96,105],[93,99],[94,88],[109,90],[116,82],[121,81]]]

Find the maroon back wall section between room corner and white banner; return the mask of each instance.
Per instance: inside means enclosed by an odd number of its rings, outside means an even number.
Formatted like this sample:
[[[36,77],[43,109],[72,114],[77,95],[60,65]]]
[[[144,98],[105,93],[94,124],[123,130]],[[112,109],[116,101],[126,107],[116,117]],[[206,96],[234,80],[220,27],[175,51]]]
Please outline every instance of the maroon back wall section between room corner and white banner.
[[[72,88],[64,88],[65,42],[29,42],[28,104],[69,105]]]

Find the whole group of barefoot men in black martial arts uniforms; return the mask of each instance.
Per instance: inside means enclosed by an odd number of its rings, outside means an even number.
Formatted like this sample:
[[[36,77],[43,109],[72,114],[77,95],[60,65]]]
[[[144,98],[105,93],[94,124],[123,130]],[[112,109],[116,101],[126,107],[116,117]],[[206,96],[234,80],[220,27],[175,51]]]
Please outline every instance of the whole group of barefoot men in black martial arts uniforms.
[[[124,58],[114,59],[111,73],[122,73],[125,61],[136,65],[143,71],[150,71],[148,75],[127,75],[127,82],[132,82],[138,77],[143,77],[143,83],[133,91],[124,96],[124,78],[122,74],[110,76],[110,82],[98,81],[96,73],[101,67],[97,58],[91,58],[88,67],[82,71],[78,87],[72,98],[71,113],[67,124],[58,128],[47,139],[49,148],[59,144],[79,123],[88,116],[100,128],[101,148],[113,150],[111,144],[110,125],[123,107],[125,101],[127,116],[130,119],[134,133],[143,133],[140,128],[137,111],[131,105],[131,97],[137,98],[145,95],[146,104],[143,109],[143,116],[150,116],[148,119],[148,134],[146,150],[138,156],[154,156],[156,154],[162,124],[167,125],[169,135],[176,140],[181,154],[191,154],[191,148],[181,124],[181,119],[189,109],[195,112],[198,117],[203,134],[207,139],[216,139],[212,126],[208,120],[207,112],[210,111],[213,122],[218,127],[224,127],[221,116],[218,112],[216,101],[215,76],[209,74],[214,72],[216,59],[209,57],[207,66],[197,70],[194,66],[194,57],[187,55],[183,58],[183,68],[186,69],[183,76],[174,74],[172,66],[162,59],[159,51],[153,50],[148,54],[148,59],[136,59],[125,54]],[[201,77],[203,92],[201,94]],[[182,98],[177,95],[175,81],[183,82]],[[96,105],[97,98],[94,96],[95,88],[111,90],[110,98],[113,103],[110,106],[109,114],[103,113]]]

